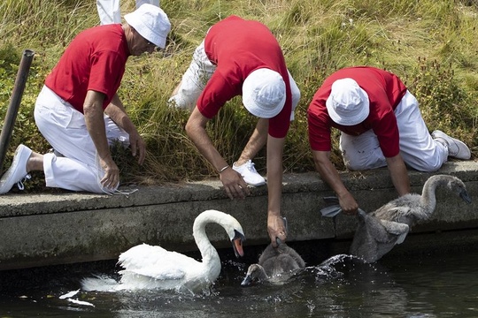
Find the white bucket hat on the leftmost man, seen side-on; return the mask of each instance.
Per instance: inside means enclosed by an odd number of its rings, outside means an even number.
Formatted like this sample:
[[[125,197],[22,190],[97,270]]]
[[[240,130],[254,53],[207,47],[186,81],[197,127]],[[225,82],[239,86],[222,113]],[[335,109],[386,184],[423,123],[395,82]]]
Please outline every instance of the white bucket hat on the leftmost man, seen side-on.
[[[143,38],[165,49],[166,36],[171,30],[171,23],[165,11],[153,4],[142,4],[135,11],[125,15],[125,20]]]

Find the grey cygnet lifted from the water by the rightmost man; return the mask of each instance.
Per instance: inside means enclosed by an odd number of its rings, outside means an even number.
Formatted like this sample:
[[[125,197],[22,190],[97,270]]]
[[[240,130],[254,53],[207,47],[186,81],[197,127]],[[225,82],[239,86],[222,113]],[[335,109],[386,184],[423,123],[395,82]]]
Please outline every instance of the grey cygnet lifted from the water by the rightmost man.
[[[421,195],[405,194],[369,214],[359,210],[358,227],[350,254],[374,262],[389,253],[393,246],[402,243],[413,225],[427,220],[435,211],[437,186],[446,186],[466,203],[471,202],[466,186],[459,178],[432,176],[425,182]]]

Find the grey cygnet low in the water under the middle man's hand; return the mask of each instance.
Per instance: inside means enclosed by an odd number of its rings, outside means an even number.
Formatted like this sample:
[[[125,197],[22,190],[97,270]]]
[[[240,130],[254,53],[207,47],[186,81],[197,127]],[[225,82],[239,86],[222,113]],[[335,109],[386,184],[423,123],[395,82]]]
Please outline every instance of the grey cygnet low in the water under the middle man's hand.
[[[297,269],[304,269],[305,261],[290,246],[281,243],[277,247],[269,244],[260,255],[258,263],[252,264],[243,279],[243,286],[251,282],[281,283]]]

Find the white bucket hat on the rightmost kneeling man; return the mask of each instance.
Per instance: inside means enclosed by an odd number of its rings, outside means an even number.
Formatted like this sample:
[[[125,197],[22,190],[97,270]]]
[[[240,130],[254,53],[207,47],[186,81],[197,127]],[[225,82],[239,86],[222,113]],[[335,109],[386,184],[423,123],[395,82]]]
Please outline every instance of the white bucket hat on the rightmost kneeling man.
[[[354,79],[337,79],[326,101],[328,115],[338,125],[358,125],[370,112],[366,91]]]

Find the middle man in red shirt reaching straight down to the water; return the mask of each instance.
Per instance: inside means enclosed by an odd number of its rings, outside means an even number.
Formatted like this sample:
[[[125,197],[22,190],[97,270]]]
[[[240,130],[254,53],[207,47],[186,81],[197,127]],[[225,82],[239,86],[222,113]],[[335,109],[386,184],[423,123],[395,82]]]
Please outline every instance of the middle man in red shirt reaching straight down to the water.
[[[237,95],[258,125],[239,160],[230,167],[206,133],[207,122]],[[267,144],[267,229],[275,245],[286,232],[281,219],[282,151],[300,91],[289,74],[274,34],[258,21],[228,17],[212,26],[197,47],[170,102],[192,110],[186,131],[218,171],[227,195],[243,198],[246,183],[265,184],[251,158]]]

